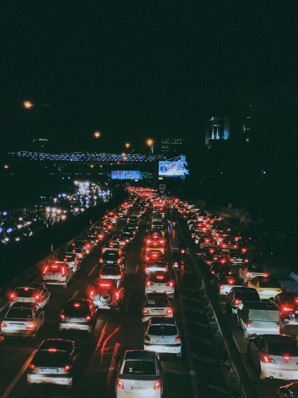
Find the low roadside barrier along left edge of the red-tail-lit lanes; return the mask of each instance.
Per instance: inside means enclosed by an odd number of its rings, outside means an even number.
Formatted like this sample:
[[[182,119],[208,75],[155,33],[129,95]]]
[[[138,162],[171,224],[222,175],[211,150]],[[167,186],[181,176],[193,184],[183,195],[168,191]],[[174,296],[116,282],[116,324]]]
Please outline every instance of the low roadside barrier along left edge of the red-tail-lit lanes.
[[[113,211],[115,211],[115,209],[116,208],[114,208]],[[102,218],[102,217],[100,217],[100,218]],[[15,279],[13,279],[11,282],[6,284],[2,289],[0,289],[0,313],[2,311],[4,311],[5,308],[8,306],[8,303],[9,303],[8,295],[9,295],[10,291],[13,291],[15,289],[15,287],[17,287],[17,285],[19,285],[20,283],[22,283],[22,284],[26,283],[26,282],[29,283],[29,282],[37,281],[38,279],[41,280],[42,266],[52,262],[57,257],[59,252],[65,251],[73,241],[84,238],[86,236],[87,232],[90,231],[94,226],[96,226],[98,221],[99,220],[97,220],[96,222],[94,222],[93,224],[91,224],[90,226],[85,228],[85,230],[80,232],[77,236],[75,236],[69,242],[67,242],[67,243],[63,244],[62,246],[60,246],[59,248],[57,248],[54,252],[52,252],[51,254],[46,256],[44,259],[39,261],[37,264],[35,264],[32,267],[23,271]]]

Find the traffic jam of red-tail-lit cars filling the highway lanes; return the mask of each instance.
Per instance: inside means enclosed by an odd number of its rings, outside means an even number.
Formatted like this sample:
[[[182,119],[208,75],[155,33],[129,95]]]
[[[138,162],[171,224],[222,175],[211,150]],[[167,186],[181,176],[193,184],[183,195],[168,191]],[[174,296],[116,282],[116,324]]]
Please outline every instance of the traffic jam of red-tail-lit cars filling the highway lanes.
[[[235,395],[194,263],[241,332],[255,377],[293,396],[298,348],[285,325],[298,324],[298,295],[266,272],[252,237],[156,189],[127,193],[38,280],[11,290],[0,366],[20,363],[1,396],[88,395],[99,385],[117,398]]]

